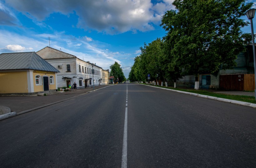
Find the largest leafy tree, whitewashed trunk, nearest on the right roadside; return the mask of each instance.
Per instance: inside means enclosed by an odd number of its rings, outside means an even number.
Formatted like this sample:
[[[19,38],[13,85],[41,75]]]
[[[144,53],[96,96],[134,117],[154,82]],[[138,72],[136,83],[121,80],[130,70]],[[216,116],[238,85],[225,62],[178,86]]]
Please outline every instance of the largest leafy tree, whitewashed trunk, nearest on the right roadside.
[[[199,89],[199,74],[232,69],[235,59],[244,49],[241,28],[249,24],[240,19],[252,6],[245,0],[175,0],[174,10],[162,17],[167,31],[166,43],[171,48],[171,67],[184,69],[195,76]]]

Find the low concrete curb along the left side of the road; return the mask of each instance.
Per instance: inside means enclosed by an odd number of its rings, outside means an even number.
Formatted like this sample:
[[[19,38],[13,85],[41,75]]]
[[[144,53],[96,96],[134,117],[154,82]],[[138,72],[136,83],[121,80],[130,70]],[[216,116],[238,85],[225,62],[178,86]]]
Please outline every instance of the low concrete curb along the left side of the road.
[[[110,85],[110,86],[114,86],[114,85]],[[106,87],[110,87],[110,86],[106,86]],[[99,89],[96,89],[96,90],[93,90],[93,91],[98,91],[98,90],[101,90],[101,89],[104,89],[106,87],[102,87],[102,88],[99,88]],[[0,115],[0,120],[3,120],[3,119],[7,119],[7,118],[10,118],[10,117],[14,117],[16,115],[20,115],[20,114],[24,114],[24,113],[27,113],[27,112],[30,112],[30,111],[34,111],[34,110],[37,110],[37,109],[41,109],[43,107],[47,107],[47,106],[50,106],[50,105],[54,105],[54,104],[57,104],[57,103],[60,103],[62,101],[66,101],[66,100],[70,100],[70,99],[73,99],[73,98],[76,98],[76,97],[79,97],[79,96],[83,96],[83,95],[86,95],[88,93],[91,93],[93,91],[88,91],[86,93],[82,93],[80,95],[77,95],[77,96],[73,96],[73,97],[70,97],[68,99],[63,99],[63,100],[59,100],[59,101],[56,101],[56,102],[53,102],[53,103],[50,103],[50,104],[47,104],[47,105],[42,105],[42,106],[39,106],[39,107],[35,107],[35,108],[32,108],[32,109],[29,109],[29,110],[24,110],[24,111],[21,111],[19,113],[16,113],[16,112],[13,112],[13,114],[11,113],[8,113],[8,114],[4,114],[4,115]]]

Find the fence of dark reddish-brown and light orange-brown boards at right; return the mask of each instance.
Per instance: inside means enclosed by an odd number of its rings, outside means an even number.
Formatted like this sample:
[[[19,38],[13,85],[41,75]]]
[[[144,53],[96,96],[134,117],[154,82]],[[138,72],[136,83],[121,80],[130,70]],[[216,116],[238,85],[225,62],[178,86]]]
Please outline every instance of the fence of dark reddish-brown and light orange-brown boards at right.
[[[231,91],[253,91],[254,74],[220,75],[219,88]]]

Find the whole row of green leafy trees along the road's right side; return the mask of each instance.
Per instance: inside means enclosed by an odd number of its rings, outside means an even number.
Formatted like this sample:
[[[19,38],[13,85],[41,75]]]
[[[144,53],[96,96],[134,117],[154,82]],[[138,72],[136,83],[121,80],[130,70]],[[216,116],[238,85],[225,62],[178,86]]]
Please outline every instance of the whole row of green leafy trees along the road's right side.
[[[160,39],[144,44],[134,59],[130,81],[152,79],[176,81],[185,75],[214,73],[236,66],[235,59],[244,43],[251,41],[241,28],[249,22],[240,19],[252,7],[245,0],[175,0],[176,10],[165,12],[160,26],[167,32]]]

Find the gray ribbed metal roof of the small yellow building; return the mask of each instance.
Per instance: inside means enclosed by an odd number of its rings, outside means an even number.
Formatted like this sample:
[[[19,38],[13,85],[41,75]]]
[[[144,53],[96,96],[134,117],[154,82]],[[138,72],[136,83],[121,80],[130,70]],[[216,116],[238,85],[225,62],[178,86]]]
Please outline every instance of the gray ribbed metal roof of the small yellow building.
[[[0,70],[14,69],[60,72],[35,52],[0,54]]]

